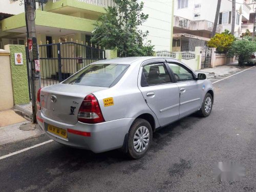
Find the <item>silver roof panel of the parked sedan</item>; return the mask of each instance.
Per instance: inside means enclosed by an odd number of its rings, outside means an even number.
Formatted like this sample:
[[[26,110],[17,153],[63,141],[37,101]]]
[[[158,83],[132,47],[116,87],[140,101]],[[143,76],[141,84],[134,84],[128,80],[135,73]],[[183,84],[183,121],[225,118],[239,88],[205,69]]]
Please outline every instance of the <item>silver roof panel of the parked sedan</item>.
[[[118,58],[114,58],[114,59],[105,59],[105,60],[99,60],[96,62],[93,62],[92,64],[129,64],[132,65],[133,63],[137,63],[135,61],[146,61],[146,60],[150,60],[150,59],[173,59],[170,57],[118,57]],[[176,60],[176,59],[173,59]]]

